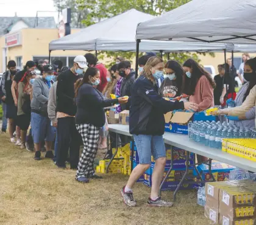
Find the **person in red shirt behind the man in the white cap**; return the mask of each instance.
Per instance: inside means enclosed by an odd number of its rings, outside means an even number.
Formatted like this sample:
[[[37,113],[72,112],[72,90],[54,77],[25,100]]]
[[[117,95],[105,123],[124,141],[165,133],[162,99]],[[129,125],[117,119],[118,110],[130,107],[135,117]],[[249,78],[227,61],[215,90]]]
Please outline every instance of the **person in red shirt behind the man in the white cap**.
[[[89,67],[96,67],[99,69],[99,73],[101,74],[101,83],[97,86],[97,89],[102,92],[107,85],[107,68],[104,64],[99,63],[98,58],[91,53],[85,54],[85,58]]]

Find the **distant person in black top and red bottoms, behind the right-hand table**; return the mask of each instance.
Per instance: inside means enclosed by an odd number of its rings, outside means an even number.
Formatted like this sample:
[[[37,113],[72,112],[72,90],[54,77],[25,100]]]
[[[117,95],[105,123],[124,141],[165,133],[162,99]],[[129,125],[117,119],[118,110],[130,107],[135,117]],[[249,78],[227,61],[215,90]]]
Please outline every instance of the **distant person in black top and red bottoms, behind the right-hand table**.
[[[236,67],[232,66],[232,59],[228,58],[227,59],[227,64],[226,64],[226,81],[227,84],[229,85],[229,89],[227,90],[227,99],[232,98],[235,100],[236,97],[236,92],[235,92],[235,78],[236,78]]]

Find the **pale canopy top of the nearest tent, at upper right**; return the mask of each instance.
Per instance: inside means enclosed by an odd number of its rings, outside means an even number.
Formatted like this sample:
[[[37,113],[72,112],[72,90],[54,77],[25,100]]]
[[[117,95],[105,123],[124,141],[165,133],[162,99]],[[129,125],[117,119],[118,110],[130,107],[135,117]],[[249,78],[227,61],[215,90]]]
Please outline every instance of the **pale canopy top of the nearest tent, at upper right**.
[[[137,27],[137,40],[256,43],[255,0],[193,0]]]

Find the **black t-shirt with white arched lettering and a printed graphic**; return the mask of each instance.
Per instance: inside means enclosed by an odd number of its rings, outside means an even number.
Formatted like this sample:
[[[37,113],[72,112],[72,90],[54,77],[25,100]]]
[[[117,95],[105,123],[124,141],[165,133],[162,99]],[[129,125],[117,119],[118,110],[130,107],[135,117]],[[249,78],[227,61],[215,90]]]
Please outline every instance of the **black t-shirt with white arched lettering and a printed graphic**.
[[[177,86],[176,80],[165,78],[159,89],[160,95],[166,98],[175,98],[180,95],[180,90]]]

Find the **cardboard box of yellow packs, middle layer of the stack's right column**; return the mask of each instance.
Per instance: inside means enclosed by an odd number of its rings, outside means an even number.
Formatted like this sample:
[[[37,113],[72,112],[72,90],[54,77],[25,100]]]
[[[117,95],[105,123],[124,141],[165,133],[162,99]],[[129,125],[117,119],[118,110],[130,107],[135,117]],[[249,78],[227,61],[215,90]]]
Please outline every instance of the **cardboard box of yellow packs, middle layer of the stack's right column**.
[[[254,206],[240,206],[230,207],[224,202],[219,202],[219,212],[225,215],[229,220],[236,220],[241,218],[255,218],[255,207]]]

